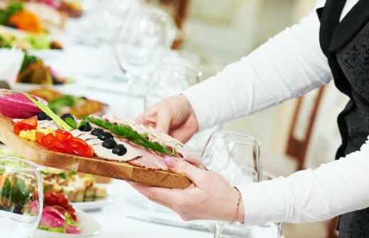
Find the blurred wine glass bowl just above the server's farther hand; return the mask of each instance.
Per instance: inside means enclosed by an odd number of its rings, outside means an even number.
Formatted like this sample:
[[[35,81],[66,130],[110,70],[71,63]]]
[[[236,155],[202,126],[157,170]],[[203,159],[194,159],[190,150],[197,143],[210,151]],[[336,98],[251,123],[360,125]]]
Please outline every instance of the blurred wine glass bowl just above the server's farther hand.
[[[162,63],[148,81],[144,98],[144,110],[162,101],[164,98],[180,94],[194,84],[198,84],[202,77],[199,69],[184,64]]]

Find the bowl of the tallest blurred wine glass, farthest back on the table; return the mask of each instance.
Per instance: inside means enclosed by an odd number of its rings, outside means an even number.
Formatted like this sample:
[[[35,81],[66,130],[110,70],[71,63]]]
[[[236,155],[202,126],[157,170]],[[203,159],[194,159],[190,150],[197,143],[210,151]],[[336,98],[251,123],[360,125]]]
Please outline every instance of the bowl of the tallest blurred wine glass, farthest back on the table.
[[[167,16],[150,8],[129,8],[114,39],[114,55],[128,85],[147,80],[157,69],[172,44],[169,22]]]

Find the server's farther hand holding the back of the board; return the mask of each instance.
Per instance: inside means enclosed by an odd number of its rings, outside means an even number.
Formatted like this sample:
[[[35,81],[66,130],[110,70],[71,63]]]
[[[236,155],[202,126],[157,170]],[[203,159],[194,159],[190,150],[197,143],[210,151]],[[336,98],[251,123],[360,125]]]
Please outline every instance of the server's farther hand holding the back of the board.
[[[172,96],[138,116],[137,123],[153,124],[155,128],[185,143],[199,131],[192,106],[182,95]]]

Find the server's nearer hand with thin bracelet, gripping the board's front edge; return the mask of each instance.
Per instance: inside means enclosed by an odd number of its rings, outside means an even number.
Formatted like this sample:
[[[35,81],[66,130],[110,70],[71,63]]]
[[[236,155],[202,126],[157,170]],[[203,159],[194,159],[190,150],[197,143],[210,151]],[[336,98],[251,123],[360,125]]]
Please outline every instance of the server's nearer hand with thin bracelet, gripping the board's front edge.
[[[193,184],[185,189],[155,188],[138,183],[130,183],[131,186],[155,203],[174,210],[182,220],[243,222],[241,194],[222,176],[199,169],[182,159],[165,157],[165,163],[171,171],[186,175]]]

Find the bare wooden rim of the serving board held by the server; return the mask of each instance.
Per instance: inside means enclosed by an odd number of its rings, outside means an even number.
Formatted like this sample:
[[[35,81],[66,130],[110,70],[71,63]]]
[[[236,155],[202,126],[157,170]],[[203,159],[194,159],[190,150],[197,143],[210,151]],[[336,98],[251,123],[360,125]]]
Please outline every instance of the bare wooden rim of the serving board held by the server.
[[[124,162],[110,162],[104,159],[78,157],[72,154],[50,151],[36,142],[18,137],[13,132],[11,119],[2,115],[0,115],[0,141],[24,159],[43,166],[79,171],[85,174],[122,179],[162,188],[187,188],[191,184],[186,176],[170,171],[145,169]]]

